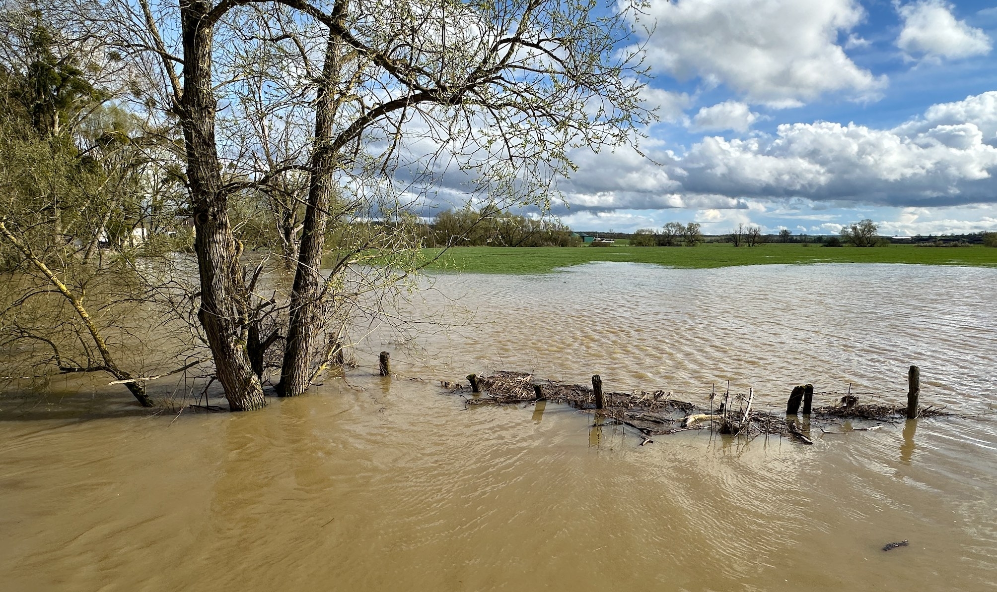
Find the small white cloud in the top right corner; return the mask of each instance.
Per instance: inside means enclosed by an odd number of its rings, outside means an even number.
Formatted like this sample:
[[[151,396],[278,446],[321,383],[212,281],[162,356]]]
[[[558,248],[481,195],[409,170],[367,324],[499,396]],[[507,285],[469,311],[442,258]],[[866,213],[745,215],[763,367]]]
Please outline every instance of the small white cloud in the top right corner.
[[[903,29],[896,47],[909,56],[937,60],[982,56],[990,52],[990,38],[952,15],[943,0],[919,0],[897,7]]]

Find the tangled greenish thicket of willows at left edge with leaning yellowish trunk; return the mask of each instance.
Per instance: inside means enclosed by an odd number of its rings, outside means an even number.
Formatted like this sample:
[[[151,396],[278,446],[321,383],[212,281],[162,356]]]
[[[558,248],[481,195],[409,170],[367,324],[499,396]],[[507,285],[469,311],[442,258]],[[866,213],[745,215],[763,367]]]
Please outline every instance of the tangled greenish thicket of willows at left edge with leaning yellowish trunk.
[[[30,8],[0,10],[4,373],[103,372],[151,407],[143,337],[166,320],[143,330],[136,309],[155,251],[145,231],[173,220],[175,187],[149,182],[166,133],[114,104],[124,80],[100,39]],[[155,349],[161,363],[175,351]]]

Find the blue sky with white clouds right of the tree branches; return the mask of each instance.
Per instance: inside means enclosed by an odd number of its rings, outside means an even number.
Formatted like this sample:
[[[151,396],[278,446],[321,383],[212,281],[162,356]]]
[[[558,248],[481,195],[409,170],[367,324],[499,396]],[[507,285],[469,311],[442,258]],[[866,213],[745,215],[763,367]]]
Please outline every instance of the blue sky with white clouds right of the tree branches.
[[[997,231],[997,4],[650,0],[642,149],[575,155],[578,230]]]

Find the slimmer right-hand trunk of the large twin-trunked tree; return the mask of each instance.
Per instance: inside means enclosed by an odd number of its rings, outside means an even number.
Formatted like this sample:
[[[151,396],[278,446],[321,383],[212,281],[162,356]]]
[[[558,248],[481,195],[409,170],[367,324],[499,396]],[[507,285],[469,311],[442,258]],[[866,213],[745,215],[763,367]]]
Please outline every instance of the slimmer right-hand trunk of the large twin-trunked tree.
[[[335,85],[340,71],[339,51],[332,31],[326,44],[322,80],[315,100],[315,149],[312,152],[308,203],[298,247],[298,264],[291,291],[287,342],[277,392],[282,397],[300,395],[308,389],[317,363],[318,339],[324,338],[326,318],[322,313],[323,277],[320,272],[325,247],[325,226],[335,188],[336,154],[332,150],[335,117]],[[320,361],[320,360],[319,360]]]

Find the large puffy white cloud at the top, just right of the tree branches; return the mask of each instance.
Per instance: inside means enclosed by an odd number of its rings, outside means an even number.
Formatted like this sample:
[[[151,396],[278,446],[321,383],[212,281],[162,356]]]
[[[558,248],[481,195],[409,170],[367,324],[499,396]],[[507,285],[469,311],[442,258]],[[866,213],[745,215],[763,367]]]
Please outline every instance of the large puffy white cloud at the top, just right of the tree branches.
[[[885,86],[837,44],[865,17],[856,0],[650,0],[647,57],[678,79],[726,85],[753,103],[785,107]]]

